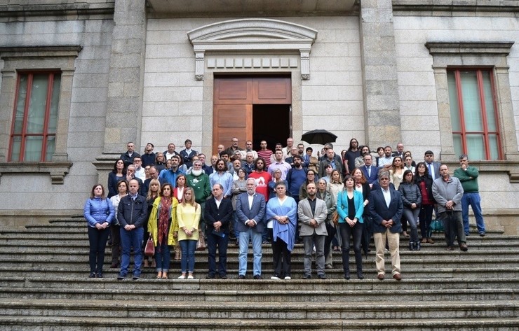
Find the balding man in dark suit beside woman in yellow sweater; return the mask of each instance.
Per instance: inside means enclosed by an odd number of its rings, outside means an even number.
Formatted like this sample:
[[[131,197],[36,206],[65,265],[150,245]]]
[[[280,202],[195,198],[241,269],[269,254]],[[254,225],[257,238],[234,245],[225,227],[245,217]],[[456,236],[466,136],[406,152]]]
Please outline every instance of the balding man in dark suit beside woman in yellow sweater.
[[[224,198],[222,184],[213,185],[213,198],[205,202],[203,211],[207,237],[209,271],[205,279],[216,274],[216,247],[218,246],[218,274],[227,279],[227,244],[229,244],[229,222],[232,218],[231,199]]]

